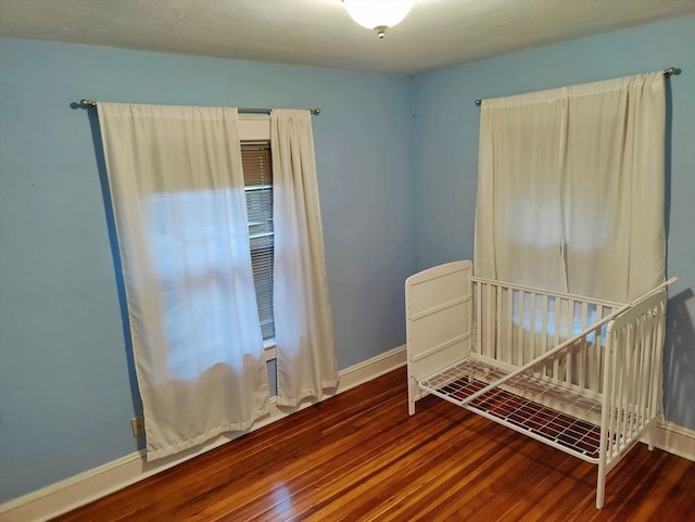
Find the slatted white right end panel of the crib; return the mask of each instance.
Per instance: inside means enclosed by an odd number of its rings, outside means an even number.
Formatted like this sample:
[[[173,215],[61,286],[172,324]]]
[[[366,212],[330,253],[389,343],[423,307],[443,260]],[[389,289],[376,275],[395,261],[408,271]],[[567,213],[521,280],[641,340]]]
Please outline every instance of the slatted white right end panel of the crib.
[[[602,408],[607,471],[660,412],[665,321],[661,290],[608,324]]]

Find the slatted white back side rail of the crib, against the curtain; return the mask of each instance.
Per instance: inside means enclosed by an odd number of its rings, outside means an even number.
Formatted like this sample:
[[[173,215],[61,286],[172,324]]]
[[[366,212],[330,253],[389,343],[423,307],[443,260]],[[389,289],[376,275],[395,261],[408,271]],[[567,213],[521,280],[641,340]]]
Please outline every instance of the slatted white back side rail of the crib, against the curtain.
[[[599,393],[605,319],[622,304],[478,277],[473,288],[478,355],[519,368],[573,340],[561,356],[536,366],[534,377]]]

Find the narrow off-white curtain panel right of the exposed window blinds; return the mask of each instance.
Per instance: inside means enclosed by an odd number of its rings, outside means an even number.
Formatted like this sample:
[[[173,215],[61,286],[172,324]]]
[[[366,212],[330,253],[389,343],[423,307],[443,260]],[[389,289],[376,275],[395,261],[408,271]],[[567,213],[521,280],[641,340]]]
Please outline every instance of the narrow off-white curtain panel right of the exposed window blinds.
[[[338,385],[308,111],[274,110],[270,147],[277,404],[294,407]]]

